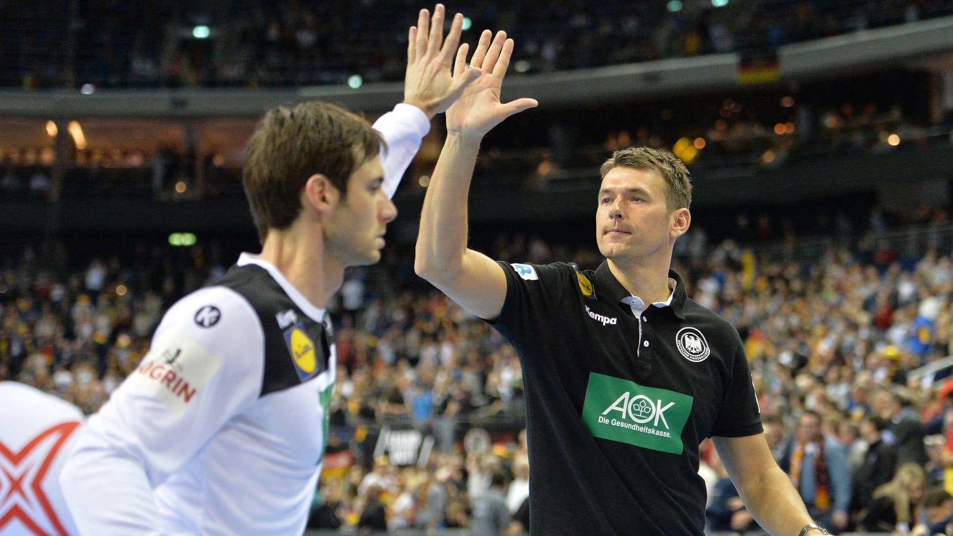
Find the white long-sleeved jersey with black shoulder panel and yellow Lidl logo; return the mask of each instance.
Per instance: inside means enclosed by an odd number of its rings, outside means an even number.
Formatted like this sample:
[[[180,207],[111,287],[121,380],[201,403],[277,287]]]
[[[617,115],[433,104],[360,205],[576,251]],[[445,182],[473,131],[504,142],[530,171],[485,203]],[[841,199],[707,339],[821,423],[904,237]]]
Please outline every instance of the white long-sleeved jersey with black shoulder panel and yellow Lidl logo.
[[[377,129],[392,196],[430,127],[397,105]],[[176,302],[149,354],[91,417],[62,482],[96,536],[299,535],[327,443],[335,347],[323,309],[242,254]]]

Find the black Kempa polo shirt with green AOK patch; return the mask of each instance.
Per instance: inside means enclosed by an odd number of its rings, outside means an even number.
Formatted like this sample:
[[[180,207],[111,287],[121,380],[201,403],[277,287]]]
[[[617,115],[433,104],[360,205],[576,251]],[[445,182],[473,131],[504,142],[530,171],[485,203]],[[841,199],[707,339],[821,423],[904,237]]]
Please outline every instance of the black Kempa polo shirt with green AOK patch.
[[[523,369],[532,534],[701,535],[699,443],[761,432],[738,331],[675,271],[671,305],[637,318],[606,262],[499,264],[491,323]]]

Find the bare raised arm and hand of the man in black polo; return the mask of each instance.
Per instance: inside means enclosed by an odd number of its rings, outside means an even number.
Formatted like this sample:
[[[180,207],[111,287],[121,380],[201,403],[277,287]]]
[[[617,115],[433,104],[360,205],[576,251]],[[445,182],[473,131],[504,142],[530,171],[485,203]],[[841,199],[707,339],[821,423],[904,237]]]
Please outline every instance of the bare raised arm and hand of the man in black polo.
[[[420,215],[417,275],[433,283],[467,311],[495,319],[506,298],[506,276],[491,258],[467,248],[467,192],[483,136],[503,119],[537,105],[531,98],[499,102],[513,40],[483,31],[470,69],[482,74],[447,110],[447,141],[436,162]],[[456,53],[454,74],[465,72],[467,46]]]

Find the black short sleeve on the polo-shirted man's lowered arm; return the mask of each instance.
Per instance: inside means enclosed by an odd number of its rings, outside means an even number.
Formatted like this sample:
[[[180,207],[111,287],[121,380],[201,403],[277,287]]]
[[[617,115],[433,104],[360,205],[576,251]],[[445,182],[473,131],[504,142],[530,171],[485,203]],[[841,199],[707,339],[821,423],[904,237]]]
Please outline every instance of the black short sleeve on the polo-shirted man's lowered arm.
[[[763,431],[761,410],[755,385],[748,368],[748,359],[744,355],[744,345],[735,337],[738,346],[732,356],[730,376],[725,381],[721,398],[718,420],[712,427],[712,436],[740,438],[753,436]]]

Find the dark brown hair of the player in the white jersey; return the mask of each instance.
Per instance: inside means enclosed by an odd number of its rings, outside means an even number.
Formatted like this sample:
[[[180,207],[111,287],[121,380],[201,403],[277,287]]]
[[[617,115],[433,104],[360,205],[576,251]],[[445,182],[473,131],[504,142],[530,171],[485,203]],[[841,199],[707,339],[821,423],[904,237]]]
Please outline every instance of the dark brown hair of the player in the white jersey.
[[[245,145],[242,188],[258,238],[287,229],[301,212],[301,190],[314,174],[347,196],[348,177],[374,158],[383,139],[363,117],[325,102],[269,110]]]

